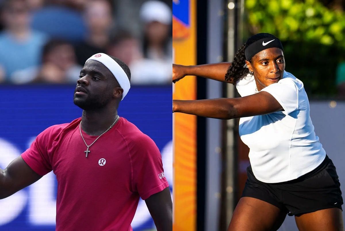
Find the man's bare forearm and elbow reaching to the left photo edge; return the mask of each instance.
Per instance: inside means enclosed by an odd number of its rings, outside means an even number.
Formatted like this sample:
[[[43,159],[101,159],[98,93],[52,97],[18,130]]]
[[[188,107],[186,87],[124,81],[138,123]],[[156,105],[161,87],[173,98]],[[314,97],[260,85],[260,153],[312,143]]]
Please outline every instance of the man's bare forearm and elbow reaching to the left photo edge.
[[[0,169],[0,199],[7,198],[41,177],[25,163],[21,156],[17,157],[6,169]]]

